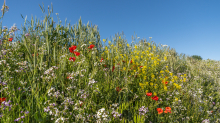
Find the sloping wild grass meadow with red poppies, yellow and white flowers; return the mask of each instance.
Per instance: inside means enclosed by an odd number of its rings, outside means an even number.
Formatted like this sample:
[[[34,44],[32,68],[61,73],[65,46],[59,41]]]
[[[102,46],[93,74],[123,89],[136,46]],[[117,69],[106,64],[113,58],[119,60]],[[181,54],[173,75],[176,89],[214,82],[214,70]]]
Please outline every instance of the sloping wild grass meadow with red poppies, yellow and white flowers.
[[[0,30],[1,123],[220,122],[218,61],[121,34],[101,40],[81,19],[54,27],[50,13],[25,19],[19,37]]]

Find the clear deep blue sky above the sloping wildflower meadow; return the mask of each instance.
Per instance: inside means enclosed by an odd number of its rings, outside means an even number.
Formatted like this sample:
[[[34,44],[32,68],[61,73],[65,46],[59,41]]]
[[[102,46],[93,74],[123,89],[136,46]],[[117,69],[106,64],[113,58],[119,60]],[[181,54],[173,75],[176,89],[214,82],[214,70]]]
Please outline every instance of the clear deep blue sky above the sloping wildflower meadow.
[[[42,2],[44,14],[39,7]],[[73,26],[81,16],[83,24],[89,21],[98,25],[101,40],[110,40],[123,31],[129,44],[132,35],[147,41],[152,37],[157,45],[168,45],[178,54],[220,60],[219,0],[6,0],[9,11],[3,17],[2,27],[11,28],[15,23],[21,29],[21,14],[24,18],[27,15],[28,21],[32,16],[34,20],[35,16],[43,20],[51,2],[55,24],[55,13],[59,13],[62,25],[67,19]]]

